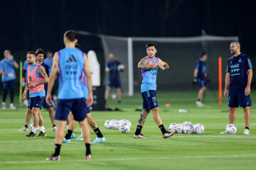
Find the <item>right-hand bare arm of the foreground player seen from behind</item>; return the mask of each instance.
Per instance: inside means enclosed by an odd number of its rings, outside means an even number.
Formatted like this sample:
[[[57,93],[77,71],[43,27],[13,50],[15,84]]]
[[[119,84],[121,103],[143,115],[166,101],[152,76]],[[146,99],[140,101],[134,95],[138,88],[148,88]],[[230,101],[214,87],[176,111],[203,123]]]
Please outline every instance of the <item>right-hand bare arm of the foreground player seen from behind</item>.
[[[88,86],[88,91],[89,91],[89,95],[86,99],[86,104],[87,106],[91,106],[92,102],[93,102],[93,98],[92,98],[92,77],[90,74],[90,65],[87,59],[87,55],[85,55],[85,67],[84,67],[84,71],[85,71],[85,76],[87,79],[87,86]]]

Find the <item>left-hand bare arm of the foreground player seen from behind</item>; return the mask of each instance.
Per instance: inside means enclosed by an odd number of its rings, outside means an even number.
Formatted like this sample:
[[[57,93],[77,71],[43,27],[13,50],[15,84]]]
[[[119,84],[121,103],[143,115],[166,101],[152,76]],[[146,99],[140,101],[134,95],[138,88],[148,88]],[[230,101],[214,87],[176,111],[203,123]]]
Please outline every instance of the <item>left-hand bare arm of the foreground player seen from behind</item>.
[[[58,69],[59,69],[58,54],[57,54],[57,52],[55,52],[55,54],[53,56],[53,66],[50,69],[50,77],[49,77],[49,81],[48,81],[48,90],[47,90],[47,95],[46,95],[46,103],[48,103],[48,105],[50,105],[50,103],[52,102],[51,91],[53,90],[53,85],[54,85],[54,81],[55,81],[55,77],[58,72]]]

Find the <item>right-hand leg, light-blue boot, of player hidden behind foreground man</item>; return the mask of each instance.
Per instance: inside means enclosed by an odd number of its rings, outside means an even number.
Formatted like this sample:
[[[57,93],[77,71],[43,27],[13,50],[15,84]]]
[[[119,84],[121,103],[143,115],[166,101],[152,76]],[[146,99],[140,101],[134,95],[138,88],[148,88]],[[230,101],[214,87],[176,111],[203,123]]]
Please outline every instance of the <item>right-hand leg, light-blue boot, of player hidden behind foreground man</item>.
[[[97,135],[97,138],[95,139],[95,141],[92,142],[92,144],[105,142],[106,138],[102,135],[102,132],[100,132],[100,129],[96,121],[92,118],[91,113],[87,113],[87,122],[89,123],[92,130],[95,131],[95,134]]]

